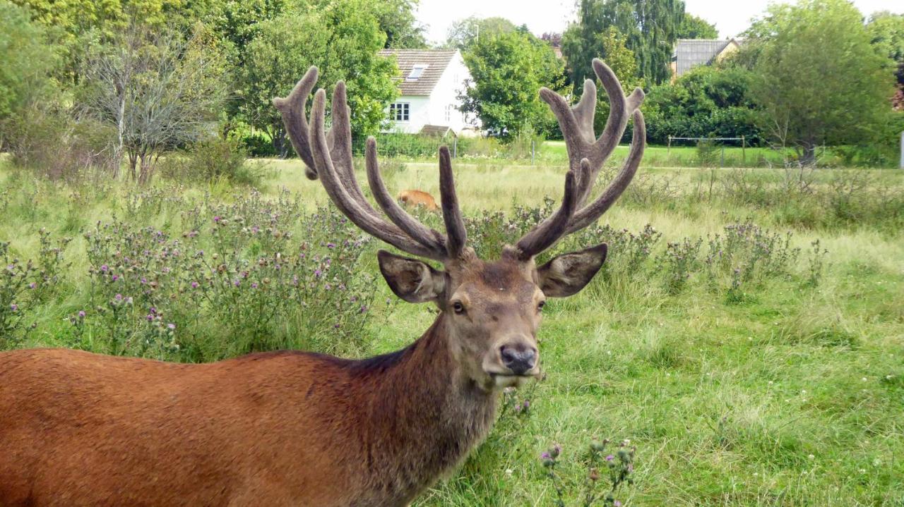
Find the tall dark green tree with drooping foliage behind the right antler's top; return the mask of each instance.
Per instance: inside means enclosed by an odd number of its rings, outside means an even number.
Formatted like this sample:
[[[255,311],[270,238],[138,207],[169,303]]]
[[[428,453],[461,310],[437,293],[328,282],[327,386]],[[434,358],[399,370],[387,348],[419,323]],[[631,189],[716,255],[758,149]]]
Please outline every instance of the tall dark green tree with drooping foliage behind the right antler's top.
[[[578,21],[563,35],[562,54],[574,68],[587,66],[577,72],[587,76],[589,62],[600,56],[599,34],[615,28],[634,52],[638,76],[661,83],[671,76],[668,65],[683,15],[681,0],[580,0]],[[564,39],[571,43],[566,46]]]

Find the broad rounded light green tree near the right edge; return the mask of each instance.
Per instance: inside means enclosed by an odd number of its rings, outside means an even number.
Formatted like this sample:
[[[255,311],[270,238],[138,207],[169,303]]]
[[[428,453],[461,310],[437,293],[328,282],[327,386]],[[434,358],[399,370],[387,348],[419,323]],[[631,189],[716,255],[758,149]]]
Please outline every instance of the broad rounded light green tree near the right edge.
[[[820,144],[859,143],[884,121],[891,97],[886,58],[870,44],[862,15],[843,0],[772,6],[758,33],[752,96],[767,131],[804,163]]]

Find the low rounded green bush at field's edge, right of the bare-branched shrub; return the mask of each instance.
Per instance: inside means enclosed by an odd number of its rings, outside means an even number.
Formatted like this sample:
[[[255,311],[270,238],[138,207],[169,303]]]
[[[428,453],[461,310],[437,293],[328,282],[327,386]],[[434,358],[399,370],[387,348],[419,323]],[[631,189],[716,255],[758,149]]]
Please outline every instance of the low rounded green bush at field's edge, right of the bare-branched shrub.
[[[248,161],[248,152],[237,139],[210,139],[193,143],[185,152],[171,153],[161,163],[161,175],[169,180],[209,181],[221,178],[241,185],[255,185],[261,170]]]

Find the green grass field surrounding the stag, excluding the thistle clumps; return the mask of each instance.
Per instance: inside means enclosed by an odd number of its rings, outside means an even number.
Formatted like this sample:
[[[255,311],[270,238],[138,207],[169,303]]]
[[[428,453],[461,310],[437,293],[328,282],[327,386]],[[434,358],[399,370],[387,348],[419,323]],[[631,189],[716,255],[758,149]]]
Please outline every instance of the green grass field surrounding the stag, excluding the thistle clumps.
[[[299,162],[271,161],[268,168],[259,198],[276,199],[284,188],[297,195],[300,210],[292,215],[285,207],[288,216],[304,217],[326,203],[323,189],[302,176]],[[560,198],[560,166],[499,162],[456,168],[459,198],[470,217],[500,210],[513,217],[514,205],[541,207],[546,196]],[[580,462],[593,437],[628,438],[637,447],[636,483],[617,494],[628,505],[904,504],[904,171],[641,171],[602,218],[601,225],[611,229],[563,245],[621,238],[611,247],[608,271],[579,295],[553,300],[544,310],[547,378],[513,395],[519,403],[529,400],[530,410],[506,410],[466,465],[415,505],[553,505],[556,493],[538,456],[554,443],[563,449],[565,502],[582,505],[586,471]],[[392,191],[438,195],[434,163],[388,163],[386,180]],[[164,340],[182,348],[136,348],[138,341],[152,340],[142,334],[150,331],[130,324],[143,321],[147,309],[137,307],[145,300],[136,292],[136,308],[126,314],[108,305],[118,289],[103,285],[108,279],[99,265],[114,253],[93,247],[91,238],[128,234],[129,241],[139,241],[147,227],[147,235],[160,232],[213,250],[221,240],[208,233],[216,230],[210,216],[231,217],[218,210],[261,215],[250,204],[253,198],[241,197],[249,190],[224,182],[158,182],[143,190],[64,185],[8,167],[0,167],[0,188],[0,241],[11,242],[10,259],[21,264],[41,258],[42,251],[52,257],[42,249],[42,227],[51,242],[73,238],[62,248],[52,272],[58,280],[47,283],[46,293],[16,313],[0,314],[7,327],[0,346],[78,346],[171,360],[277,346],[372,355],[409,344],[435,318],[427,306],[393,302],[382,281],[368,279],[355,289],[372,300],[366,318],[341,321],[354,327],[355,337],[322,322],[316,338],[306,336],[315,324],[305,314],[313,309],[287,309],[262,325],[272,336],[261,339],[235,334],[227,323],[211,325],[217,317],[212,313],[211,322],[192,320],[191,312],[179,315],[188,301],[178,298],[189,297],[180,290],[170,298],[176,302],[167,307],[167,318],[182,320],[175,337]],[[114,217],[118,228],[97,228]],[[274,229],[294,232],[289,241],[303,242],[317,230],[303,224],[309,218],[279,222],[271,213],[266,219],[277,224]],[[195,220],[202,224],[197,238],[189,234]],[[484,251],[505,237],[493,230],[495,223],[477,229]],[[642,235],[647,225],[662,237]],[[720,241],[737,239],[732,231],[739,226],[754,235],[743,236],[740,246],[724,243],[737,255],[723,266],[711,262],[710,242],[716,235]],[[650,252],[641,254],[643,248],[633,243],[640,240],[620,235],[623,228],[635,238],[647,237],[641,246]],[[784,239],[761,246],[778,237],[767,229],[786,238],[786,246]],[[103,232],[83,235],[92,230]],[[375,276],[376,243],[350,253],[358,255],[349,264],[356,273],[342,276]],[[279,244],[252,239],[240,250],[253,259],[272,248]],[[173,266],[185,276],[195,269]],[[6,283],[0,298],[12,293]],[[18,294],[29,293],[22,288]],[[266,303],[255,297],[248,301]],[[207,308],[200,301],[197,308]],[[77,317],[82,310],[88,313],[84,321]],[[108,334],[119,336],[123,329],[122,340],[111,342]],[[224,336],[246,341],[234,346]]]

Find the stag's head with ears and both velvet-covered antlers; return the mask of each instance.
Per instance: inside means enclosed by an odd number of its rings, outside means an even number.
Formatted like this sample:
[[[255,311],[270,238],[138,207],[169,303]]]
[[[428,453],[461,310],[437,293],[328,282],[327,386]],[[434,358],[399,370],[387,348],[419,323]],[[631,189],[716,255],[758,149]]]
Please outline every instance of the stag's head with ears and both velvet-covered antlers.
[[[569,154],[569,171],[561,204],[550,217],[506,245],[501,258],[485,261],[467,246],[465,224],[458,207],[449,152],[439,149],[439,188],[446,234],[421,224],[391,198],[381,179],[377,146],[367,140],[367,179],[378,212],[364,198],[352,164],[352,134],[345,85],[339,81],[333,94],[333,124],[325,129],[326,94],[315,93],[311,118],[305,103],[317,79],[308,69],[287,98],[274,99],[287,133],[306,164],[306,175],[320,179],[335,206],[365,233],[402,252],[442,263],[434,269],[418,259],[395,253],[378,253],[380,270],[391,290],[402,300],[431,302],[441,310],[450,355],[457,368],[485,391],[518,385],[540,372],[537,328],[546,298],[562,298],[583,289],[606,260],[606,244],[565,253],[537,266],[538,253],[568,235],[595,222],[612,206],[634,177],[645,146],[644,116],[638,107],[644,92],[636,88],[626,97],[615,74],[601,60],[593,69],[610,102],[606,128],[593,132],[597,88],[584,83],[579,103],[569,106],[564,97],[547,88],[541,98],[556,115]],[[598,172],[624,134],[628,116],[634,119],[631,151],[616,178],[588,203]],[[388,217],[389,221],[385,218]]]

